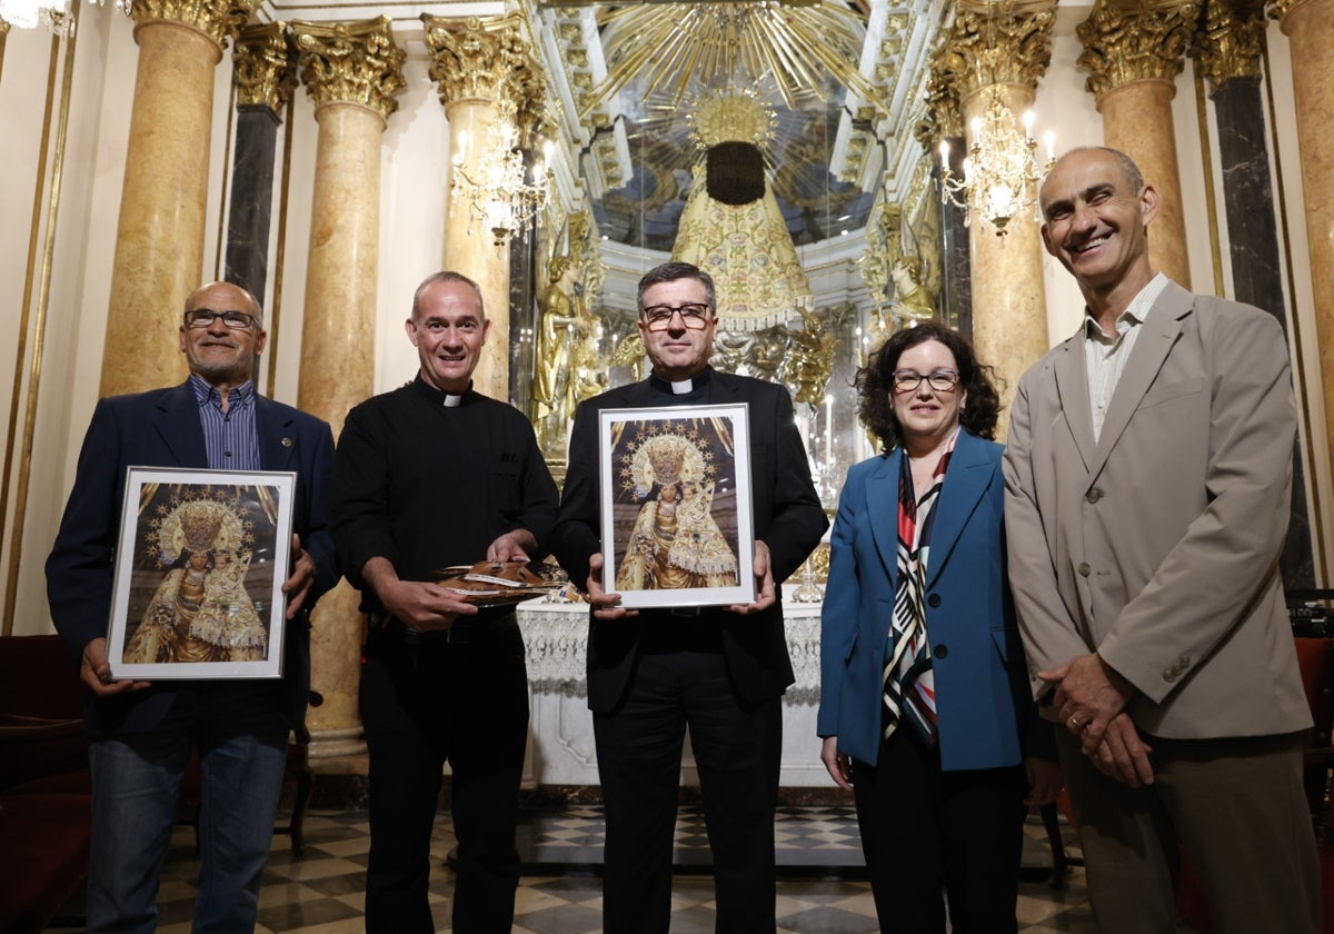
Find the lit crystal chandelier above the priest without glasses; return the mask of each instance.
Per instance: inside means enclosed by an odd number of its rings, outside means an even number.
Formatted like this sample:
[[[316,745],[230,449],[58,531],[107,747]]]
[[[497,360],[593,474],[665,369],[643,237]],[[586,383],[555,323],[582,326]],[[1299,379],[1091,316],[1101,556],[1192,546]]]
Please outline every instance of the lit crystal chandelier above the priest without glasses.
[[[482,223],[498,247],[532,223],[551,192],[552,176],[543,168],[543,160],[534,164],[530,180],[516,113],[514,101],[502,99],[476,164],[468,164],[464,155],[468,148],[466,132],[459,133],[459,151],[454,155],[450,216],[455,216],[459,200],[467,199],[470,232],[474,224]],[[550,163],[550,156],[546,161]]]

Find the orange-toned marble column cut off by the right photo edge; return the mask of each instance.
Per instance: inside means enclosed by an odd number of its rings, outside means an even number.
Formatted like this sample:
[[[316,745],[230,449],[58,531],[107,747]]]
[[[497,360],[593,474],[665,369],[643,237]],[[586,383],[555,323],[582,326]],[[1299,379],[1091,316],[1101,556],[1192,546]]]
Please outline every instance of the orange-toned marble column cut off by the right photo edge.
[[[1334,0],[1279,0],[1273,8],[1291,47],[1325,436],[1334,460]]]

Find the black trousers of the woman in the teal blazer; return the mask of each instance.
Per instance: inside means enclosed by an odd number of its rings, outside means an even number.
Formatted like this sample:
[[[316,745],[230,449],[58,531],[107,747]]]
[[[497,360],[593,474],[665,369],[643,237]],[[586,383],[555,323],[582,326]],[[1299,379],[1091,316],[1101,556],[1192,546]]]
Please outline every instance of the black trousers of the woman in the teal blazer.
[[[1021,766],[942,771],[904,726],[852,762],[856,822],[884,934],[1015,931],[1026,781]]]

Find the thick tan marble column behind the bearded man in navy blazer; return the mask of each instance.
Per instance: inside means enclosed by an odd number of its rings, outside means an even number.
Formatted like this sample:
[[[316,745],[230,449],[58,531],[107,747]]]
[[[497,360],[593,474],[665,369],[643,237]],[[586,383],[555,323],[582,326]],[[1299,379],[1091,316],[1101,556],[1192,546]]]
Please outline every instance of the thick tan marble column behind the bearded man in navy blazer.
[[[139,71],[101,395],[184,379],[172,335],[204,266],[213,69],[259,0],[133,0]],[[144,340],[144,335],[152,335]],[[133,354],[123,352],[135,348]]]

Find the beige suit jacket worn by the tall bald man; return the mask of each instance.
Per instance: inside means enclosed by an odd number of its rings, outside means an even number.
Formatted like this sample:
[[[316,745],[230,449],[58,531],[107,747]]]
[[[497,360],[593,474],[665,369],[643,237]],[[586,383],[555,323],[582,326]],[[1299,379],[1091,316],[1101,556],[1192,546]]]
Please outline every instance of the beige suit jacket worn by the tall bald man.
[[[1137,688],[1143,733],[1309,727],[1278,575],[1297,431],[1283,332],[1174,283],[1141,327],[1097,443],[1082,330],[1019,383],[1003,470],[1030,675],[1097,650]]]

